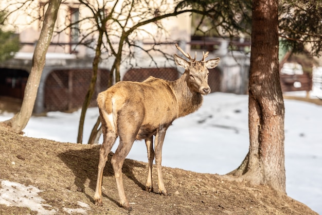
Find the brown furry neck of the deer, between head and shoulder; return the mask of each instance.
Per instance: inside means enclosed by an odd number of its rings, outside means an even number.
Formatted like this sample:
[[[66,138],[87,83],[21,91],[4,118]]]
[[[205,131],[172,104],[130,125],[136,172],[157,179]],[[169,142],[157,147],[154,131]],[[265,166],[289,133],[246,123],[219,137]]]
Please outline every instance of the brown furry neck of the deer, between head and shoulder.
[[[203,101],[200,93],[190,90],[187,78],[189,78],[187,73],[184,73],[179,79],[171,82],[178,104],[178,117],[195,112],[200,108]]]

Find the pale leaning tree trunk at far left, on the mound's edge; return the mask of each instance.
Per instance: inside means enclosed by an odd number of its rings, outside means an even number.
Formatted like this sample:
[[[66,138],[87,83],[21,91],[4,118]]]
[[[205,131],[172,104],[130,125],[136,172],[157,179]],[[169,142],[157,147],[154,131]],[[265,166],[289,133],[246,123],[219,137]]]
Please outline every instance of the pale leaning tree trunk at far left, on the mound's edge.
[[[20,133],[26,127],[31,117],[41,74],[45,66],[46,52],[52,38],[60,4],[61,0],[49,1],[39,40],[34,49],[32,67],[26,84],[21,110],[5,122],[16,133]]]

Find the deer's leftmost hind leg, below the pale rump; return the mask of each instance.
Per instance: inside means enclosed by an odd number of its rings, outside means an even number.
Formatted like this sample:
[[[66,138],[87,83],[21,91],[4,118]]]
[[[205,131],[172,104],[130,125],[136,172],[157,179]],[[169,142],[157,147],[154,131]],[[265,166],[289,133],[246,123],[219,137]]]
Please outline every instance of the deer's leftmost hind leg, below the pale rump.
[[[100,111],[101,114],[101,111]],[[117,134],[113,130],[108,130],[106,121],[102,117],[101,114],[101,122],[102,122],[102,132],[103,132],[103,144],[99,150],[99,163],[98,163],[98,172],[97,172],[97,181],[96,181],[96,189],[94,194],[95,205],[102,206],[102,177],[103,170],[108,160],[108,155],[115,143],[117,138]]]

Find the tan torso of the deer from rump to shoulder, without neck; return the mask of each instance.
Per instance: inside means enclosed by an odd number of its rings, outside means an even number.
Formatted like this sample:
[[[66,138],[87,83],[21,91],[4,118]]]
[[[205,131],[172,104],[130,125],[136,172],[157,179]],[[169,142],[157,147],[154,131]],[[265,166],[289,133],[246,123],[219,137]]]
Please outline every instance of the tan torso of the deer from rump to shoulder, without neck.
[[[149,133],[138,135],[137,139],[155,133],[160,125],[169,126],[178,117],[178,104],[169,81],[154,77],[141,83],[120,81],[101,92],[97,102],[114,130],[122,126],[118,124],[122,118],[128,123],[135,120],[141,133]]]

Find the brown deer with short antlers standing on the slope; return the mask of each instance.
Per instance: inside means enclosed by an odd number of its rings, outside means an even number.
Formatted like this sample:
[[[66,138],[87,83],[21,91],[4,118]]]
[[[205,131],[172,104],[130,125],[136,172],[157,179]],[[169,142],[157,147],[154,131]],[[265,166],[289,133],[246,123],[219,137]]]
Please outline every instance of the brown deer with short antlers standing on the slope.
[[[95,205],[102,206],[102,177],[108,154],[115,140],[119,145],[111,158],[119,194],[119,204],[132,210],[123,187],[122,166],[135,140],[145,140],[148,152],[148,177],[146,190],[153,192],[152,164],[155,158],[158,193],[167,196],[162,174],[162,146],[166,131],[172,122],[198,110],[203,95],[210,93],[208,85],[209,68],[219,64],[220,58],[205,60],[208,51],[203,52],[201,61],[196,61],[180,46],[176,48],[189,61],[174,53],[175,63],[185,72],[175,81],[150,76],[143,82],[120,81],[97,96],[101,119],[103,143],[99,150],[97,182],[94,194]],[[153,149],[153,136],[154,149]]]

